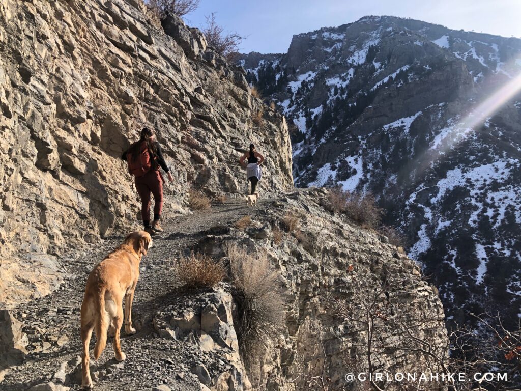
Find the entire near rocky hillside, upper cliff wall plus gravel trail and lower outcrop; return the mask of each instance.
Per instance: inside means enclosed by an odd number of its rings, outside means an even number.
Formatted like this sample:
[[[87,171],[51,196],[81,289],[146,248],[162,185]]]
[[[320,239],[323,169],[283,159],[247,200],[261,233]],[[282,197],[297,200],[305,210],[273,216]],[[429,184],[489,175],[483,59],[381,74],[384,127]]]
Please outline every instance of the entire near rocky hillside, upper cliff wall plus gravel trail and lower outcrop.
[[[436,288],[386,237],[327,212],[325,190],[294,190],[286,119],[199,31],[176,18],[161,25],[140,0],[7,0],[0,52],[0,302],[10,307],[0,313],[0,389],[79,388],[85,279],[139,226],[119,156],[142,126],[156,129],[175,178],[167,233],[140,267],[128,360],[110,360],[107,347],[90,369],[97,389],[294,390],[306,376],[344,387],[369,361],[440,370],[421,351],[447,351]],[[267,158],[259,207],[230,197],[188,215],[191,186],[245,190],[237,160],[250,142]],[[245,229],[241,215],[252,219]],[[265,254],[282,292],[280,328],[251,368],[233,284],[186,291],[175,274],[191,250],[226,262],[226,243]]]

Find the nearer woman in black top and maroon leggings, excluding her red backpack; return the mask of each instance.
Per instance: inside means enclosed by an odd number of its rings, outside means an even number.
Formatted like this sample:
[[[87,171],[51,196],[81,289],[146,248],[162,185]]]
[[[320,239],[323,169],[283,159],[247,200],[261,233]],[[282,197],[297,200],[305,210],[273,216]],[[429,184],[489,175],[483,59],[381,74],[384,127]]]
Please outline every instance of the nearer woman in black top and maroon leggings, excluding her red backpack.
[[[123,152],[121,158],[127,161],[128,154],[131,156],[137,154],[142,142],[147,143],[148,153],[151,155],[150,161],[152,168],[143,176],[136,176],[134,181],[135,188],[141,197],[141,217],[143,218],[145,231],[153,234],[154,231],[163,231],[163,228],[159,225],[159,218],[161,217],[161,211],[163,209],[163,182],[165,180],[159,172],[157,164],[159,163],[159,166],[168,174],[168,180],[170,182],[173,181],[173,177],[163,157],[161,146],[155,140],[152,130],[148,128],[141,130],[140,140],[133,143],[128,150]],[[154,222],[152,223],[152,227],[150,226],[150,193],[154,196]]]

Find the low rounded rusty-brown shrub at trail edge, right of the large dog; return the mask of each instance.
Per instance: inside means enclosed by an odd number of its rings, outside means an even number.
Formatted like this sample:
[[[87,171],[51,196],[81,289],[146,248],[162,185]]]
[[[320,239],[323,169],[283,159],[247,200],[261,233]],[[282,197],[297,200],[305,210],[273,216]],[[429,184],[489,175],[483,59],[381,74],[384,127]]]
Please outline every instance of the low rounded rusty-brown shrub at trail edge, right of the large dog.
[[[179,279],[189,288],[215,286],[225,277],[225,268],[220,262],[203,253],[182,256],[176,267]]]

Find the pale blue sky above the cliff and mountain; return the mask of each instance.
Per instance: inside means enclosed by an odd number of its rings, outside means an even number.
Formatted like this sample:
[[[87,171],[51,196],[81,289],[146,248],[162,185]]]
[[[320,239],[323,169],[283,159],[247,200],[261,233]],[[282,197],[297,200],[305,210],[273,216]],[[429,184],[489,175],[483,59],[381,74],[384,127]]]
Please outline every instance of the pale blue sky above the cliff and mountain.
[[[202,27],[216,12],[219,25],[246,39],[241,52],[283,53],[293,34],[354,22],[366,15],[425,20],[459,30],[521,37],[521,0],[201,0],[185,16]]]

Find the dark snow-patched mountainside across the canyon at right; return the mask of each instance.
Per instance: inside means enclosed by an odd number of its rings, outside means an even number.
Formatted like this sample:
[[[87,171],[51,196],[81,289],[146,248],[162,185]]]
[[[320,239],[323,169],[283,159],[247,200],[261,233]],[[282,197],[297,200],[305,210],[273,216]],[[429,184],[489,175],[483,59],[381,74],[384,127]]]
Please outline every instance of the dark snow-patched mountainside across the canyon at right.
[[[449,323],[521,316],[521,40],[396,17],[239,64],[293,123],[295,185],[372,192]]]

